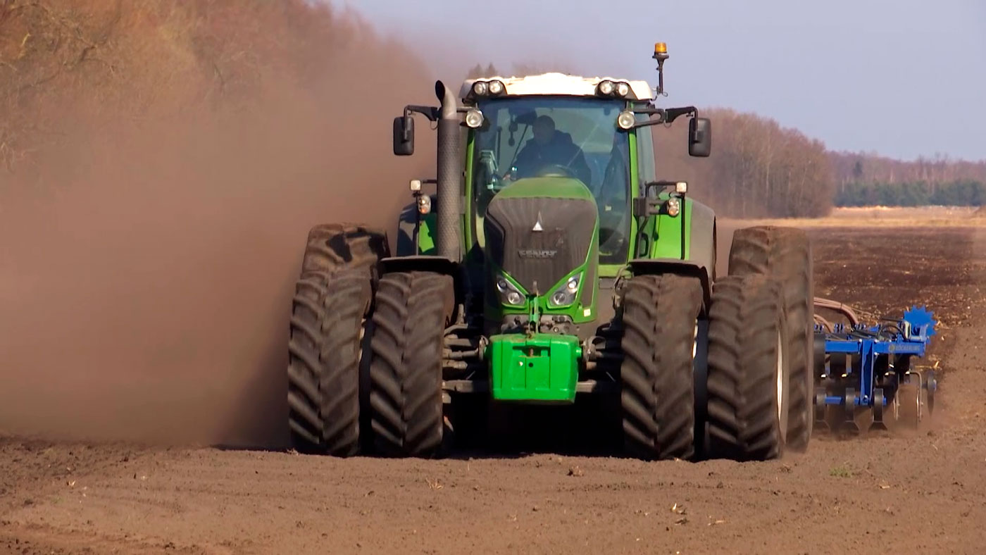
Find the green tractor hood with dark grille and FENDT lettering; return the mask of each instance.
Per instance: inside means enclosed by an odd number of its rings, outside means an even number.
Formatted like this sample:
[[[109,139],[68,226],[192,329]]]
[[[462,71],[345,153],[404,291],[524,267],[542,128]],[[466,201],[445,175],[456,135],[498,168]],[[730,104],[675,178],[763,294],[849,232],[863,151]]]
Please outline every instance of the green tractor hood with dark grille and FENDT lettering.
[[[598,228],[592,193],[570,177],[518,180],[493,197],[483,221],[488,260],[525,293],[537,296],[551,293],[589,262]],[[595,277],[585,275],[581,281]]]

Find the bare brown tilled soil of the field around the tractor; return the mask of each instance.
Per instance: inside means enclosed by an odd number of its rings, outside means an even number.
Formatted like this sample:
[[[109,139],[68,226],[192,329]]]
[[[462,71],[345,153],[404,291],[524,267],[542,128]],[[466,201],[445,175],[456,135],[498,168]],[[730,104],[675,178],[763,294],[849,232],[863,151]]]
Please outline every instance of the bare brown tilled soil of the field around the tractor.
[[[926,361],[941,389],[921,430],[816,438],[764,463],[335,459],[13,437],[0,440],[0,553],[980,552],[986,230],[810,236],[817,295],[874,317],[927,305],[942,320]]]

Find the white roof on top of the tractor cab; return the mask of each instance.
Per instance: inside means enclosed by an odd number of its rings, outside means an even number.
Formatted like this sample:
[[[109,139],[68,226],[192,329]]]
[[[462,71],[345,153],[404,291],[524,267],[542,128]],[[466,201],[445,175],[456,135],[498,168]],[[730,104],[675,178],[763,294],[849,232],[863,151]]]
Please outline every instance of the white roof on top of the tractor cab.
[[[654,100],[654,89],[646,81],[628,81],[614,77],[583,77],[564,73],[542,73],[523,77],[480,77],[466,79],[459,90],[459,98],[465,100],[471,96],[472,84],[476,81],[500,81],[504,84],[505,93],[501,96],[530,96],[530,95],[562,95],[575,97],[599,97],[597,87],[602,81],[626,83],[630,86],[627,99],[637,101]]]

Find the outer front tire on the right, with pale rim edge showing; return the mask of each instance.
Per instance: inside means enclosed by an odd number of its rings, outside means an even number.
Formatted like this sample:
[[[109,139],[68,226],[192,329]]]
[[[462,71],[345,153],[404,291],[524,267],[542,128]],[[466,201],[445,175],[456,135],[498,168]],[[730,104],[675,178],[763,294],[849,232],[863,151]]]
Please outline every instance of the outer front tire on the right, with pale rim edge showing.
[[[716,283],[709,312],[708,449],[713,458],[784,452],[788,345],[781,286],[762,274]]]

